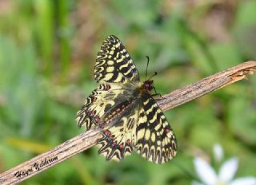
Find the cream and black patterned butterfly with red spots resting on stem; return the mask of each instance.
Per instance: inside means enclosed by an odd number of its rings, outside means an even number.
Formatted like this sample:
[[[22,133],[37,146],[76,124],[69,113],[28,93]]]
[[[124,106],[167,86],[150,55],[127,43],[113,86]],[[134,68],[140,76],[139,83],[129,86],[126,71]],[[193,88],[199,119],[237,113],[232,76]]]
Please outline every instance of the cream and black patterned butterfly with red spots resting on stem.
[[[176,137],[150,91],[153,80],[140,81],[122,42],[110,35],[94,68],[97,89],[77,112],[78,126],[102,128],[99,154],[121,160],[136,151],[153,163],[166,163],[177,152]]]

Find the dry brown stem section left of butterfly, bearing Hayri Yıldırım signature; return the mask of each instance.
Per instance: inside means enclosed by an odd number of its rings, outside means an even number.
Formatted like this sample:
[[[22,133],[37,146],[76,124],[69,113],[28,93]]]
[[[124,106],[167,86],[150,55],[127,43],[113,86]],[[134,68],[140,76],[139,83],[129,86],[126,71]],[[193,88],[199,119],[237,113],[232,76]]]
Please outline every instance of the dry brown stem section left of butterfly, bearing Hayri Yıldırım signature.
[[[59,144],[49,152],[42,153],[8,171],[0,174],[0,184],[20,183],[46,169],[53,167],[57,163],[69,159],[94,146],[101,136],[99,129],[83,132],[82,134]]]

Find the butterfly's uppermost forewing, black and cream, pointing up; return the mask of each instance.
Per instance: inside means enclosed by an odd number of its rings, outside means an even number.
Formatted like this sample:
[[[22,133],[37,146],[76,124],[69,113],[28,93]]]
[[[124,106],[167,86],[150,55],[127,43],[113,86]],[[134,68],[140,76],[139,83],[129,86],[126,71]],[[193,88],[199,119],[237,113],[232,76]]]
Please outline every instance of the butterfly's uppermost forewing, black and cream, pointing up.
[[[118,37],[110,35],[103,42],[96,60],[94,78],[98,82],[122,84],[139,81],[136,66]]]

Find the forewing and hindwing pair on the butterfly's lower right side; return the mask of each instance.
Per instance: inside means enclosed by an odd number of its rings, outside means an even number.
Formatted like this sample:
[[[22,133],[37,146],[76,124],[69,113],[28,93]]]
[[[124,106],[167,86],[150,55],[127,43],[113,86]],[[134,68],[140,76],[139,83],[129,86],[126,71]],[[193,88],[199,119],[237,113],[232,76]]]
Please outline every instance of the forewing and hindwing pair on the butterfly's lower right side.
[[[166,163],[176,155],[174,132],[149,94],[134,100],[102,133],[98,153],[108,160],[121,160],[134,150],[153,163]]]

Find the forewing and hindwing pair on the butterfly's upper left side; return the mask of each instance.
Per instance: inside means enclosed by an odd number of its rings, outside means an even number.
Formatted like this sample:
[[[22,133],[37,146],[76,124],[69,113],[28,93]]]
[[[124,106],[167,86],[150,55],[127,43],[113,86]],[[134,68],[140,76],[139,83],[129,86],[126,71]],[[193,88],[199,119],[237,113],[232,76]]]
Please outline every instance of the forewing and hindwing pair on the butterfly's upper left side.
[[[101,84],[77,112],[78,126],[85,125],[87,130],[101,126],[100,120],[106,112],[110,112],[114,104],[129,98],[130,91],[139,81],[136,66],[117,37],[111,35],[103,42],[96,60],[94,77]]]

